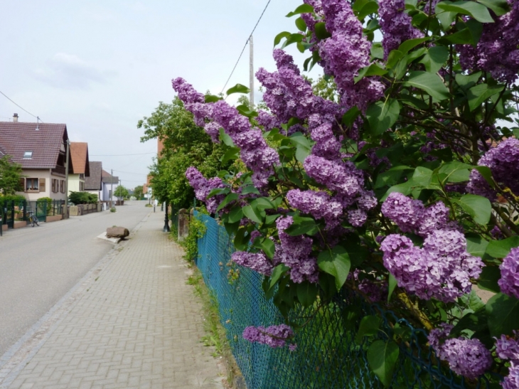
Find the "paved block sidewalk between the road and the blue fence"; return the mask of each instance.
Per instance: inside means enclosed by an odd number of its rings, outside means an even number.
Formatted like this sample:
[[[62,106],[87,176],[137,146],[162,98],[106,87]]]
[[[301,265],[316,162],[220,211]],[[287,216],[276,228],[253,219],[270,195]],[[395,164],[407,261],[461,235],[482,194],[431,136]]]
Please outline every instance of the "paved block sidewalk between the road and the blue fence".
[[[223,388],[163,225],[146,216],[1,358],[1,389]]]

